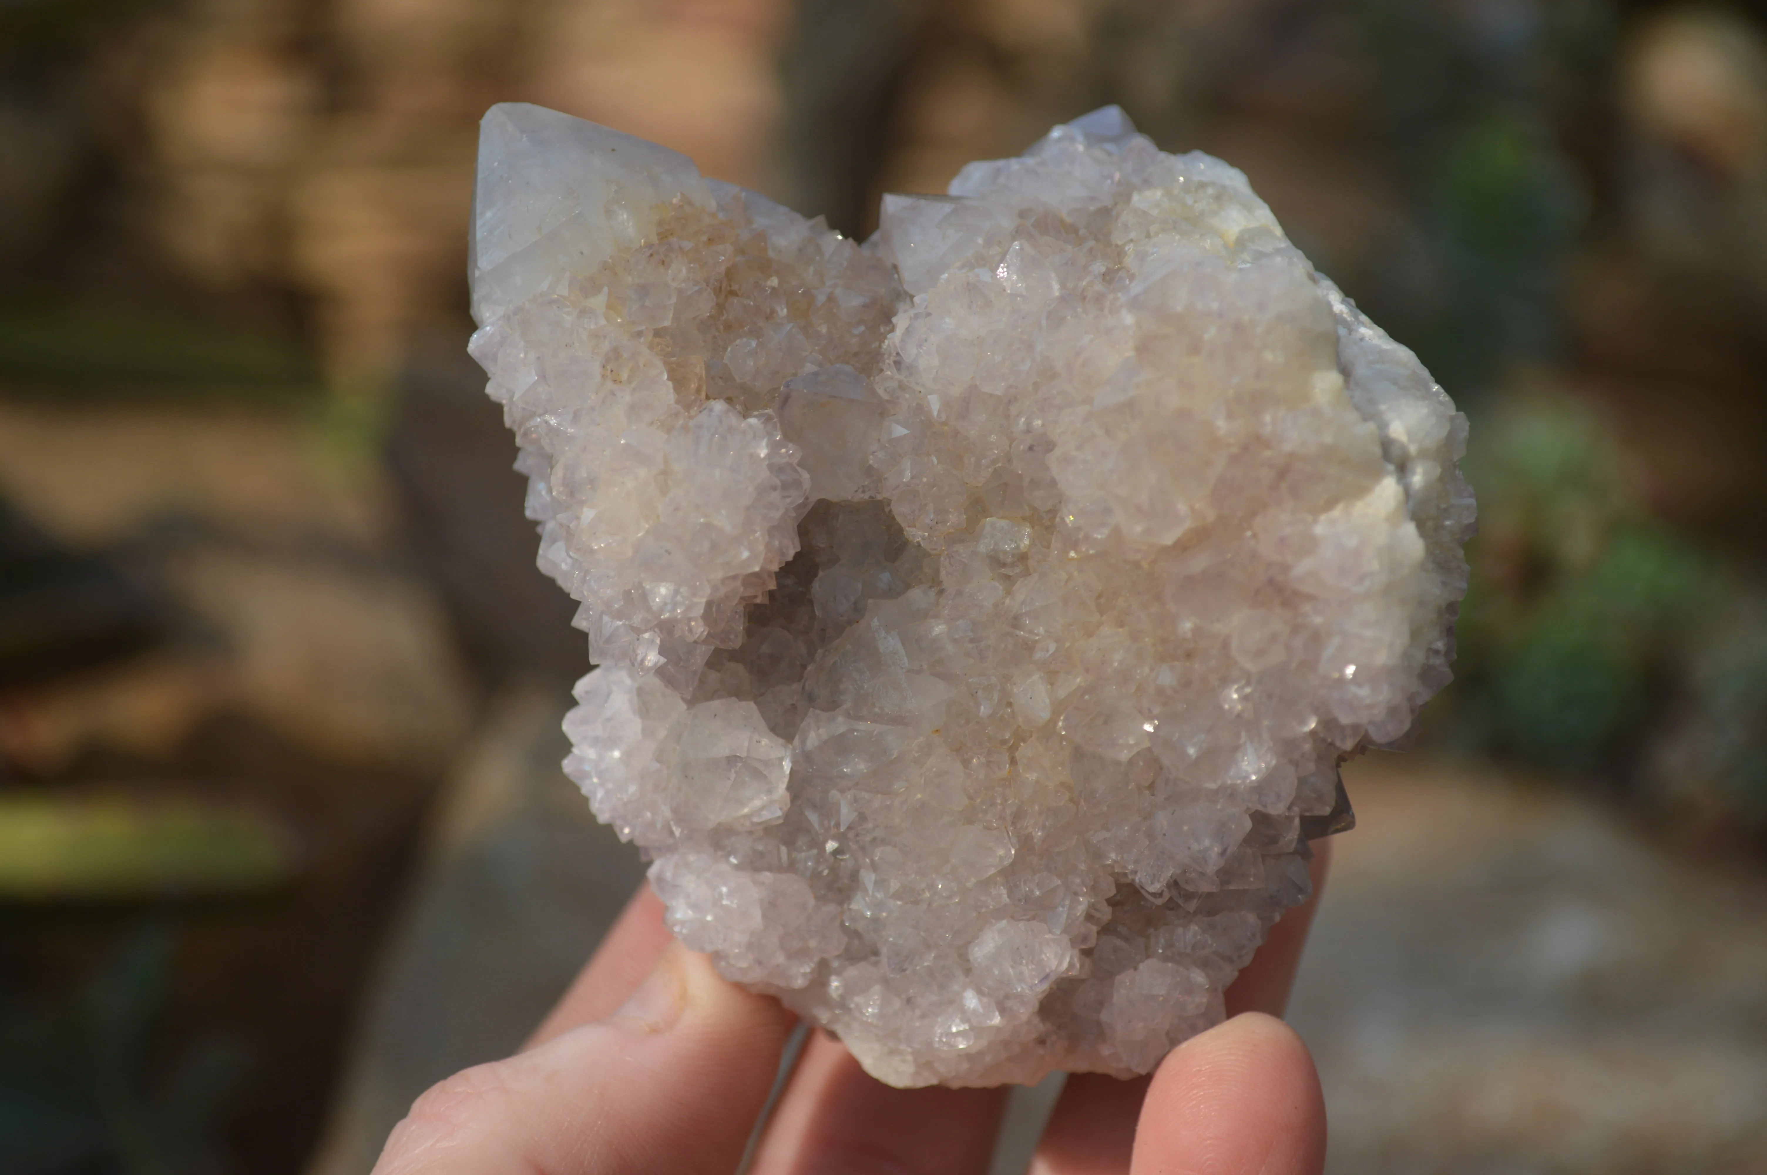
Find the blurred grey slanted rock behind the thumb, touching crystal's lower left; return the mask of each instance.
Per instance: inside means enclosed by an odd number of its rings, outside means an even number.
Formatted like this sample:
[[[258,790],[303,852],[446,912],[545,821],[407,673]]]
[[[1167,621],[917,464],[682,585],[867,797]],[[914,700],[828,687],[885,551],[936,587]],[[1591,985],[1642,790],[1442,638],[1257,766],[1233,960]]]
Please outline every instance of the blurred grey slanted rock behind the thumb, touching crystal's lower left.
[[[569,696],[512,687],[449,779],[307,1175],[360,1175],[429,1085],[507,1057],[643,878],[558,763]]]

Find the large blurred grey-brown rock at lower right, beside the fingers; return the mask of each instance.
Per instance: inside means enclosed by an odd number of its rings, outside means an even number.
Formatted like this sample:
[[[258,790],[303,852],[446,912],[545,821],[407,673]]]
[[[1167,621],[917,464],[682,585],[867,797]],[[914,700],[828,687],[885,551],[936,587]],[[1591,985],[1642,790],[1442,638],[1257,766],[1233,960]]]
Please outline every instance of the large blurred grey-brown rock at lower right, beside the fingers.
[[[1758,873],[1491,769],[1345,777],[1357,830],[1290,1005],[1331,1171],[1767,1170]]]

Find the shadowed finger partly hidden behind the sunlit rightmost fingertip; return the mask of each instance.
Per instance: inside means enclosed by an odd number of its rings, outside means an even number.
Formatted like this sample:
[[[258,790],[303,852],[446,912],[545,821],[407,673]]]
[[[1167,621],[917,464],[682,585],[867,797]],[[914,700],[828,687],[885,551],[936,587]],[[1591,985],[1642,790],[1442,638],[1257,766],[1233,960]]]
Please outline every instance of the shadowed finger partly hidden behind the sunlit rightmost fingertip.
[[[1331,841],[1313,845],[1313,894],[1286,910],[1246,970],[1226,989],[1228,1016],[1258,1011],[1281,1014],[1301,967],[1313,910],[1325,891]],[[1097,1073],[1067,1078],[1037,1145],[1030,1175],[1122,1175],[1129,1170],[1134,1124],[1147,1094],[1147,1078],[1119,1081]]]

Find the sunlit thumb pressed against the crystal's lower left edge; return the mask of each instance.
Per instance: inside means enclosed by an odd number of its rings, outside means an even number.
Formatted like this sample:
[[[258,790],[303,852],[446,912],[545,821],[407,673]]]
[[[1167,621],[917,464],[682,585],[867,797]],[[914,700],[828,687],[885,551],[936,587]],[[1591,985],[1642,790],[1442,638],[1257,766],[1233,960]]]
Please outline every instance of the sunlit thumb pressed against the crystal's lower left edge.
[[[728,1175],[792,1018],[670,947],[606,1021],[417,1099],[375,1175]]]

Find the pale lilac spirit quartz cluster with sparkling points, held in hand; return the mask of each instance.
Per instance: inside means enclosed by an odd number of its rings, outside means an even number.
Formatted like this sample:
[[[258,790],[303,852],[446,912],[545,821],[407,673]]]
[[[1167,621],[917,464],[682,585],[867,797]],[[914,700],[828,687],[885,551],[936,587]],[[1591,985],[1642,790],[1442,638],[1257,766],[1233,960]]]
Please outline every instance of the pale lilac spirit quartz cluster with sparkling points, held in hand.
[[[1449,680],[1465,417],[1106,108],[866,244],[537,106],[472,353],[671,929],[892,1085],[1145,1073]]]

